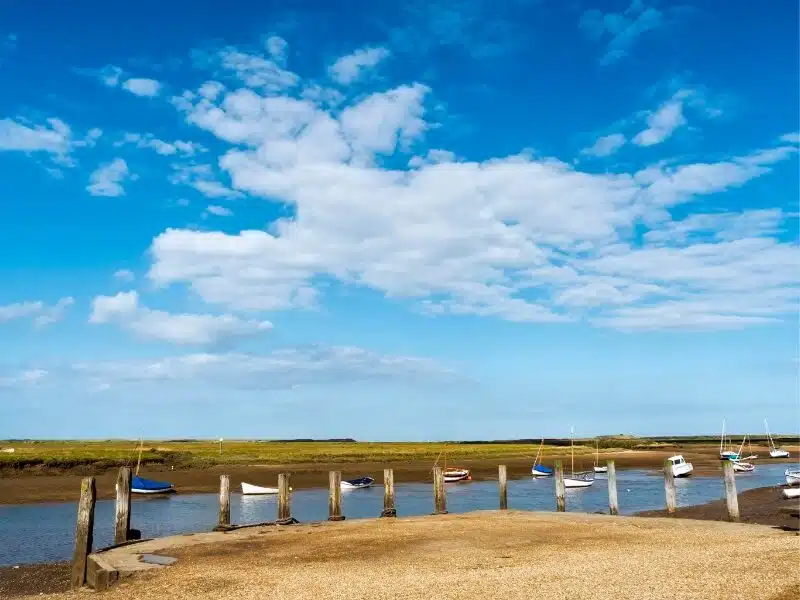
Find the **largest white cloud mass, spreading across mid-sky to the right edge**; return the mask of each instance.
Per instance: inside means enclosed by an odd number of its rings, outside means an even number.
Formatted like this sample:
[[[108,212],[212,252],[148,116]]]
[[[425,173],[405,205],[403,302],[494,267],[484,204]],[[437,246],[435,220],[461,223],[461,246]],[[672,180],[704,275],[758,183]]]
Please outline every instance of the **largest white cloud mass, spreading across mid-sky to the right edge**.
[[[231,192],[283,204],[291,216],[238,232],[168,229],[150,248],[153,283],[185,284],[227,310],[264,311],[314,307],[324,300],[318,282],[335,280],[435,314],[630,328],[630,311],[692,294],[716,301],[737,282],[741,313],[734,304],[714,312],[712,302],[685,325],[745,326],[787,314],[781,294],[794,285],[785,274],[796,247],[780,237],[785,214],[701,224],[676,223],[672,211],[691,212],[703,198],[706,211],[729,213],[713,196],[767,175],[796,155],[795,146],[601,173],[533,153],[477,162],[424,147],[436,126],[426,119],[425,86],[342,99],[335,108],[323,92],[298,98],[255,81],[252,89],[180,97],[175,104],[188,123],[230,145],[219,166]],[[709,111],[695,89],[672,100],[682,111]],[[651,126],[666,122],[654,117]],[[191,169],[184,183],[219,184],[211,166]],[[701,225],[711,230],[696,231]],[[774,247],[759,246],[765,240]],[[664,259],[657,251],[665,246],[678,254]],[[764,270],[781,275],[768,279],[746,253],[732,251],[745,247],[763,251]],[[606,268],[626,256],[642,269]],[[697,279],[666,277],[657,259],[691,261]],[[721,271],[702,268],[719,261]],[[762,312],[750,314],[747,302],[756,300]],[[653,314],[674,323],[666,309]]]

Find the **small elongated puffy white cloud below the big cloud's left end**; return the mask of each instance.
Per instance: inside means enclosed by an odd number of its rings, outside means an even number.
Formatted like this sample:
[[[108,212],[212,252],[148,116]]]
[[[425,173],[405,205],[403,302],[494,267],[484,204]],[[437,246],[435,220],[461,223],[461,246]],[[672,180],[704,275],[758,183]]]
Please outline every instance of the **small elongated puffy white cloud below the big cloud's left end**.
[[[269,321],[240,319],[223,314],[172,314],[139,304],[135,291],[97,296],[92,301],[90,323],[117,323],[137,336],[181,345],[216,345],[261,335],[272,329]]]

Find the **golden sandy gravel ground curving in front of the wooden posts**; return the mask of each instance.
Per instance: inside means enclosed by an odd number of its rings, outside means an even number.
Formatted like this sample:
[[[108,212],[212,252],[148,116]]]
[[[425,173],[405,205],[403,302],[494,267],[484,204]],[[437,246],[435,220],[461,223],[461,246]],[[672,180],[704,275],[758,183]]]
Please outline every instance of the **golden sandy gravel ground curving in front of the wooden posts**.
[[[800,592],[800,537],[683,519],[491,511],[154,542],[124,552],[178,562],[125,579],[105,598],[788,600]]]

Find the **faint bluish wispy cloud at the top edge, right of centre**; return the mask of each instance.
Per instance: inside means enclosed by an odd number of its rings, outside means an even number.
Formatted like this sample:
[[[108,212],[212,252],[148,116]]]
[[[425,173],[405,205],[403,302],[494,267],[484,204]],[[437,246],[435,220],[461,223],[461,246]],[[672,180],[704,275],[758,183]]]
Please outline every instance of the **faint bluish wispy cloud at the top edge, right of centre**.
[[[623,12],[603,13],[590,9],[581,15],[580,28],[595,41],[607,44],[601,65],[610,65],[628,55],[636,41],[664,24],[664,15],[643,0],[633,0]]]

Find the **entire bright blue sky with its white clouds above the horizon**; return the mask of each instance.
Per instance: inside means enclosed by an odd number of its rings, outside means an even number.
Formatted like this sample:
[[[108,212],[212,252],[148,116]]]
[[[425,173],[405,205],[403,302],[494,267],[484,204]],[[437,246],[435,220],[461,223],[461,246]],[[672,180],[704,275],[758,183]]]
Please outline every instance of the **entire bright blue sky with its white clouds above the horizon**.
[[[796,3],[0,7],[0,437],[798,426]]]

